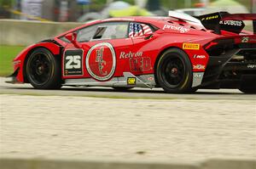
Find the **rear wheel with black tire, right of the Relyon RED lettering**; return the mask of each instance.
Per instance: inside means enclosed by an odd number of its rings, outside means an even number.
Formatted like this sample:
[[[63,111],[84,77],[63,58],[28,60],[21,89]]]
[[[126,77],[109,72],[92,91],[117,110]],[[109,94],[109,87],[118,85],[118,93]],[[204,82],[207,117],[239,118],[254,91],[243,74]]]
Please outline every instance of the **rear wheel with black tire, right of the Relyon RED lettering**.
[[[166,50],[156,68],[157,80],[166,93],[193,93],[189,56],[178,48]]]

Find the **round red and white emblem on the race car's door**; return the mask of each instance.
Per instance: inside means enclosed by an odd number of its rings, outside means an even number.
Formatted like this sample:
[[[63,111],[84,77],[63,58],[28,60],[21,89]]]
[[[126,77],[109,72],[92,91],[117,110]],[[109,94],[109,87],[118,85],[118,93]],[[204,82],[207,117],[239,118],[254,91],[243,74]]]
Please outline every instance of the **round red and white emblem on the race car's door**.
[[[116,67],[113,46],[102,42],[91,47],[86,55],[85,65],[90,76],[98,81],[108,81]]]

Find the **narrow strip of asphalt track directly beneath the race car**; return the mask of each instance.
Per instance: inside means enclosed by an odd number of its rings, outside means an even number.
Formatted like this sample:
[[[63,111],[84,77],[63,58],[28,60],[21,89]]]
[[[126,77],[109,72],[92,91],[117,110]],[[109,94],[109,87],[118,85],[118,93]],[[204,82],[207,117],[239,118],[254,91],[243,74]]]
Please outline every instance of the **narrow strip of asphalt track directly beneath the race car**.
[[[126,92],[111,87],[61,87],[59,90],[37,90],[30,84],[9,84],[0,77],[0,94],[82,96],[112,99],[236,99],[256,100],[256,94],[244,94],[237,89],[201,89],[193,94],[165,93],[161,88],[133,88]]]

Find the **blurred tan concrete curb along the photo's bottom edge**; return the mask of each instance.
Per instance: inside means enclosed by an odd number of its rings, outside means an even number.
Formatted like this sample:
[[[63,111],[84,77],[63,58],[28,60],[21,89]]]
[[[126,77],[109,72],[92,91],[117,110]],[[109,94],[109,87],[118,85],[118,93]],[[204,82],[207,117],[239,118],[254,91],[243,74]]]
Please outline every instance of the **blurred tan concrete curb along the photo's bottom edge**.
[[[255,169],[255,160],[79,161],[1,158],[1,169]]]

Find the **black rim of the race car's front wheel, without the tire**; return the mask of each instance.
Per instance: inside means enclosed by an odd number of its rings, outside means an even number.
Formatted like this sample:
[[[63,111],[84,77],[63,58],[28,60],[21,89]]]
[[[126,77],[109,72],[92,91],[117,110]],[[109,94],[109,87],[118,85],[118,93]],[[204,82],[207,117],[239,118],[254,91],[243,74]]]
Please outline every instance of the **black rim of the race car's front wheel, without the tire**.
[[[44,85],[49,81],[52,67],[46,54],[34,54],[28,64],[28,76],[33,83]]]

